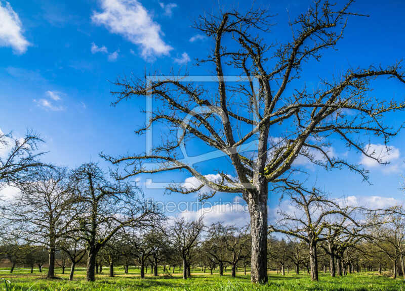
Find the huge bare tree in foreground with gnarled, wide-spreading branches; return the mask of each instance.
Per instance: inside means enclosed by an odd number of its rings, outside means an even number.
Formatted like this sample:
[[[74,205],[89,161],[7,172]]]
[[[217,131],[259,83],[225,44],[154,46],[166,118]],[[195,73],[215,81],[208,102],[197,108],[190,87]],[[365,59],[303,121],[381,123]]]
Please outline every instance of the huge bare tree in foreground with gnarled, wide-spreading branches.
[[[300,82],[308,69],[305,64],[320,61],[323,52],[335,48],[347,18],[359,15],[350,11],[352,3],[349,0],[338,7],[316,0],[290,22],[292,38],[284,43],[266,42],[273,37],[267,10],[205,12],[194,21],[194,27],[212,39],[212,47],[197,65],[212,65],[209,75],[215,85],[197,78],[193,81],[187,74],[185,78],[165,78],[158,73],[148,77],[146,72],[143,77],[123,76],[115,82],[113,105],[144,95],[153,100],[153,108],[146,110],[150,118],[137,133],[159,122],[169,130],[161,143],[145,153],[102,156],[126,165],[119,178],[184,170],[201,185],[190,189],[175,183],[168,187],[170,191],[190,193],[206,185],[212,189],[206,198],[215,192],[241,193],[251,216],[253,282],[268,280],[269,183],[286,179],[300,155],[329,169],[347,167],[367,178],[359,165],[328,151],[332,140],[341,138],[348,148],[382,162],[365,150],[369,135],[387,143],[397,132],[384,124],[384,115],[402,111],[404,103],[374,99],[368,92],[370,81],[380,76],[405,83],[399,63],[350,68],[342,75],[320,78],[318,87]],[[234,82],[229,74],[241,81]],[[196,160],[182,158],[182,150],[192,139],[217,151],[210,159],[218,157],[217,153],[227,158],[228,164],[218,169],[221,179],[209,180],[194,165]]]

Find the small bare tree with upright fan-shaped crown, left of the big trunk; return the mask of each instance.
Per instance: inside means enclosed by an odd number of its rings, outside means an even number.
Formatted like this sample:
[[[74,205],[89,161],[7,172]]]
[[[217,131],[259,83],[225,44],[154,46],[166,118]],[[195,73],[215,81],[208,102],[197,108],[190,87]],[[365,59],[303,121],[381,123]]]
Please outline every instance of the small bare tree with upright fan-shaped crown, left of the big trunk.
[[[172,243],[183,260],[183,279],[187,279],[187,271],[189,271],[190,264],[189,256],[191,255],[191,251],[200,243],[199,237],[203,229],[203,217],[193,221],[187,221],[182,217],[174,221],[171,238]]]

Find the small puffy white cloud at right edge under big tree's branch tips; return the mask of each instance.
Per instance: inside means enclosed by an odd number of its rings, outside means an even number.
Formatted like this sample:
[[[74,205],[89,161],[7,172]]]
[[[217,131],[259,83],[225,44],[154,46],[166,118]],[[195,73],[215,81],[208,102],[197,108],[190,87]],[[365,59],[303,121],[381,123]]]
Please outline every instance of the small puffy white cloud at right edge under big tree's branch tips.
[[[385,173],[399,172],[403,167],[403,162],[400,158],[399,149],[394,146],[385,147],[384,144],[367,144],[363,149],[368,155],[378,159],[380,163],[389,163],[388,165],[380,164],[376,160],[361,156],[360,163],[367,168],[380,168]]]

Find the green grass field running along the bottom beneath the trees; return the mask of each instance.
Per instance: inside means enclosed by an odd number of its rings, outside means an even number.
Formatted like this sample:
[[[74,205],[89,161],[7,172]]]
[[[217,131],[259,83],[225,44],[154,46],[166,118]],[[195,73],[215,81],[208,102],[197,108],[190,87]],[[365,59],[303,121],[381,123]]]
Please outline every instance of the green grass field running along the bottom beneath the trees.
[[[218,274],[210,275],[201,272],[201,269],[192,270],[190,279],[183,280],[180,270],[176,269],[173,277],[152,277],[147,274],[145,279],[141,279],[137,268],[130,268],[129,274],[124,274],[123,268],[115,268],[116,276],[108,277],[108,269],[104,268],[104,274],[98,274],[95,282],[86,282],[84,268],[77,269],[74,281],[68,281],[69,269],[66,268],[65,274],[61,270],[56,270],[56,275],[62,279],[43,279],[46,274],[46,268],[43,273],[34,270],[33,274],[29,270],[16,269],[13,274],[8,270],[0,269],[0,278],[4,277],[10,281],[7,283],[2,279],[0,290],[24,290],[24,291],[130,291],[130,290],[223,290],[223,291],[245,291],[245,290],[333,290],[333,291],[363,291],[363,290],[381,290],[381,291],[405,291],[405,283],[400,279],[392,279],[388,276],[381,276],[375,272],[354,273],[344,277],[331,278],[328,274],[319,273],[319,282],[311,282],[309,275],[296,275],[293,272],[281,276],[275,272],[269,272],[269,283],[267,285],[252,285],[250,275],[244,275],[243,272],[236,274],[232,278],[230,273],[225,273],[220,277]],[[159,270],[162,273],[162,270]],[[230,270],[228,270],[230,271]],[[11,287],[10,287],[11,286]]]

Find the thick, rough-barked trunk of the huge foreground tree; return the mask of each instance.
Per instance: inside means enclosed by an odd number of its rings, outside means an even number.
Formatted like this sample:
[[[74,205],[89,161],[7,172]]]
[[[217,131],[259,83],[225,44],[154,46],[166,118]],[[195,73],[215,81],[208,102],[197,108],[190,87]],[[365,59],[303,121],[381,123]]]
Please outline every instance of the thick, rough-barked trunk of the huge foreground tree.
[[[263,178],[264,179],[264,178]],[[251,280],[253,283],[265,284],[267,277],[267,196],[268,185],[259,181],[258,199],[248,201],[251,217],[252,258]]]

